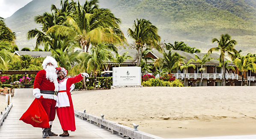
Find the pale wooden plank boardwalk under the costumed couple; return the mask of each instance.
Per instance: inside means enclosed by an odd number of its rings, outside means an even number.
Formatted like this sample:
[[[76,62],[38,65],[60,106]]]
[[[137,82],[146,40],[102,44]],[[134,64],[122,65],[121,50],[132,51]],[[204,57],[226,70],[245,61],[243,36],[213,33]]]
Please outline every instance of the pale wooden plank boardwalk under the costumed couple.
[[[12,99],[12,109],[7,118],[0,126],[0,139],[41,139],[42,129],[32,127],[20,121],[19,118],[27,110],[35,97],[33,96],[33,89],[15,89],[15,97]],[[83,121],[81,118],[75,118],[76,129],[74,132],[69,131],[68,137],[70,139],[125,139],[119,134],[112,134],[111,130],[106,128],[99,128],[97,124],[90,124]],[[53,123],[52,131],[57,134],[63,133],[59,119],[56,118]],[[50,139],[63,139],[60,136],[53,136]]]

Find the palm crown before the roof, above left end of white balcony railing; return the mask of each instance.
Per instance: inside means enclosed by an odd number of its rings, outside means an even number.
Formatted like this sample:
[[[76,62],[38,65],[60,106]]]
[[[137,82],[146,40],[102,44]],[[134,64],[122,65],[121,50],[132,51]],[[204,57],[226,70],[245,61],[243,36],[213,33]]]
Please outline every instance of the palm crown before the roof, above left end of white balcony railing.
[[[176,69],[182,63],[184,56],[180,56],[178,53],[172,53],[171,50],[167,52],[163,52],[163,58],[159,57],[155,60],[155,67],[160,69],[167,69],[168,74],[171,74],[172,71],[176,71]]]

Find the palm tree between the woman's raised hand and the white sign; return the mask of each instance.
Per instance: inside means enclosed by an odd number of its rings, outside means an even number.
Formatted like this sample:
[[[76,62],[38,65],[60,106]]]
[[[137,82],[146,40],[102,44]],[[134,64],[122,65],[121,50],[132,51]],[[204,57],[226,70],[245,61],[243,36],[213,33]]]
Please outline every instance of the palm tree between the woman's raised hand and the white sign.
[[[82,52],[81,55],[84,55],[85,61],[87,62],[87,72],[93,72],[94,74],[94,90],[96,89],[96,77],[98,71],[103,69],[104,62],[108,60],[114,60],[112,54],[107,51],[104,44],[99,44],[96,47],[90,48],[90,53]],[[80,55],[79,54],[79,55]]]

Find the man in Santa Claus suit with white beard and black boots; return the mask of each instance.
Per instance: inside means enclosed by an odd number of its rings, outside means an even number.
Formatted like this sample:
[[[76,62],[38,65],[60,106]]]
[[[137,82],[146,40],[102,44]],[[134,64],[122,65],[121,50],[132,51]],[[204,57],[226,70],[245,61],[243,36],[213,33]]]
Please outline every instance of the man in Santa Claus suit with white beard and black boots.
[[[49,138],[49,136],[58,136],[51,132],[51,127],[56,113],[56,101],[58,94],[58,80],[56,69],[58,64],[56,60],[47,56],[42,64],[43,70],[38,71],[34,81],[33,95],[36,98],[41,98],[39,101],[45,108],[45,111],[49,119],[49,128],[42,128],[43,138]]]

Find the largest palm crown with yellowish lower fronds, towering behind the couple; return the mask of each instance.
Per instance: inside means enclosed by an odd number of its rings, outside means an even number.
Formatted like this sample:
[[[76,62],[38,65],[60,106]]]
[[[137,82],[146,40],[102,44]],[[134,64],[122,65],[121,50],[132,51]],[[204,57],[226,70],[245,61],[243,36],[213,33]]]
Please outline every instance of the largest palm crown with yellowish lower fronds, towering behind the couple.
[[[74,15],[73,18],[67,18],[69,26],[56,25],[48,32],[57,31],[64,36],[74,36],[86,53],[90,44],[123,44],[125,37],[119,29],[120,19],[115,18],[109,9],[98,8],[98,0],[86,0],[83,6],[79,2],[76,6],[73,0],[72,3]]]

